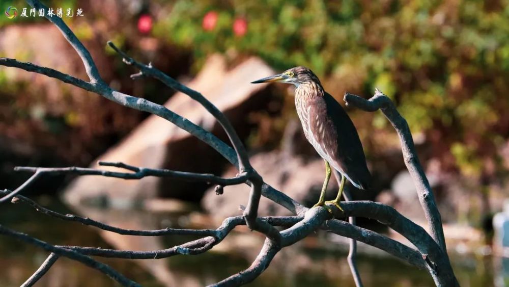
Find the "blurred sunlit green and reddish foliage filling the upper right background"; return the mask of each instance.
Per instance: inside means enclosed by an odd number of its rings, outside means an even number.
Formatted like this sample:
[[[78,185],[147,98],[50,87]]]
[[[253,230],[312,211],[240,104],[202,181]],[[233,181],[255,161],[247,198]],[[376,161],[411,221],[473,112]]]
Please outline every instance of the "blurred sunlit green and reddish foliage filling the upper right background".
[[[482,159],[509,136],[507,0],[179,0],[158,18],[155,36],[191,49],[198,66],[217,51],[259,55],[279,70],[312,68],[338,99],[379,87],[466,175],[486,173]],[[384,122],[375,114],[359,128],[374,133]]]

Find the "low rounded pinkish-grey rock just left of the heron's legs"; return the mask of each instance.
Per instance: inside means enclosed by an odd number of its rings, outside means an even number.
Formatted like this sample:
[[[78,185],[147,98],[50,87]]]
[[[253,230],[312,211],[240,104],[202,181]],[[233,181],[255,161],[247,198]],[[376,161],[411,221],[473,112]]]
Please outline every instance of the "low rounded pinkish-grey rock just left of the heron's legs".
[[[315,159],[308,162],[297,156],[288,156],[284,152],[272,151],[259,153],[251,157],[251,165],[262,175],[267,184],[284,192],[288,196],[312,206],[318,201],[325,176],[323,160]],[[235,169],[229,170],[223,176],[235,176]],[[327,198],[333,199],[337,192],[337,183],[331,176],[327,189]],[[203,199],[202,206],[216,220],[225,217],[241,215],[240,205],[246,205],[249,196],[247,185],[229,186],[224,188],[222,195],[216,195],[214,188],[209,189]],[[262,197],[259,215],[276,216],[290,215],[286,208]]]

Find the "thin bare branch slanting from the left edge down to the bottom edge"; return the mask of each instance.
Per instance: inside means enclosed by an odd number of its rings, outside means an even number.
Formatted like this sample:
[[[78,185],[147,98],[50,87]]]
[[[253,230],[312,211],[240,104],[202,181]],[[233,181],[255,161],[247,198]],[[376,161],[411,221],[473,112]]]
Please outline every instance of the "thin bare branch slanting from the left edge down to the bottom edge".
[[[0,225],[0,234],[4,234],[5,236],[9,236],[9,237],[18,239],[20,241],[23,241],[25,243],[38,246],[48,252],[55,253],[56,255],[65,256],[70,259],[81,262],[82,264],[87,265],[88,267],[94,268],[94,269],[106,274],[111,279],[114,279],[115,281],[119,282],[123,286],[133,286],[133,287],[140,286],[138,283],[128,279],[127,277],[125,277],[121,273],[117,272],[115,269],[112,269],[108,265],[106,265],[104,263],[100,263],[100,262],[98,262],[88,256],[85,256],[79,252],[76,252],[74,250],[65,249],[62,247],[57,247],[57,246],[48,244],[42,240],[33,238],[25,233],[21,233],[21,232],[12,230],[12,229],[7,228],[3,225]]]

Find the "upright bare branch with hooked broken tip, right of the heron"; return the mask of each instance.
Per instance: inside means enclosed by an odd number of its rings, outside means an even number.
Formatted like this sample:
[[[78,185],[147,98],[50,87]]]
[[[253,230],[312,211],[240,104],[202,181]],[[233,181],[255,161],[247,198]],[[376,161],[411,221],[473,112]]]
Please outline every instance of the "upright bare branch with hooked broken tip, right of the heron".
[[[368,112],[374,112],[380,109],[396,132],[398,132],[405,165],[413,178],[420,204],[430,224],[431,236],[442,251],[444,251],[444,255],[447,256],[440,212],[438,211],[430,182],[420,165],[407,121],[398,112],[390,98],[378,89],[375,90],[375,95],[369,100],[350,93],[345,93],[345,101],[347,105],[355,106]]]

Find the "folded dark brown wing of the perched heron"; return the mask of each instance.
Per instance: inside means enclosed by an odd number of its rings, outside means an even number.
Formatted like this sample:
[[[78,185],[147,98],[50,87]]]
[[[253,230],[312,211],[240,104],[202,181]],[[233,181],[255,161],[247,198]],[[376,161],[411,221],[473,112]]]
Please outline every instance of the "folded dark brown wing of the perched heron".
[[[343,107],[328,93],[310,99],[309,107],[309,128],[318,153],[354,186],[368,189],[371,174],[362,143]]]

